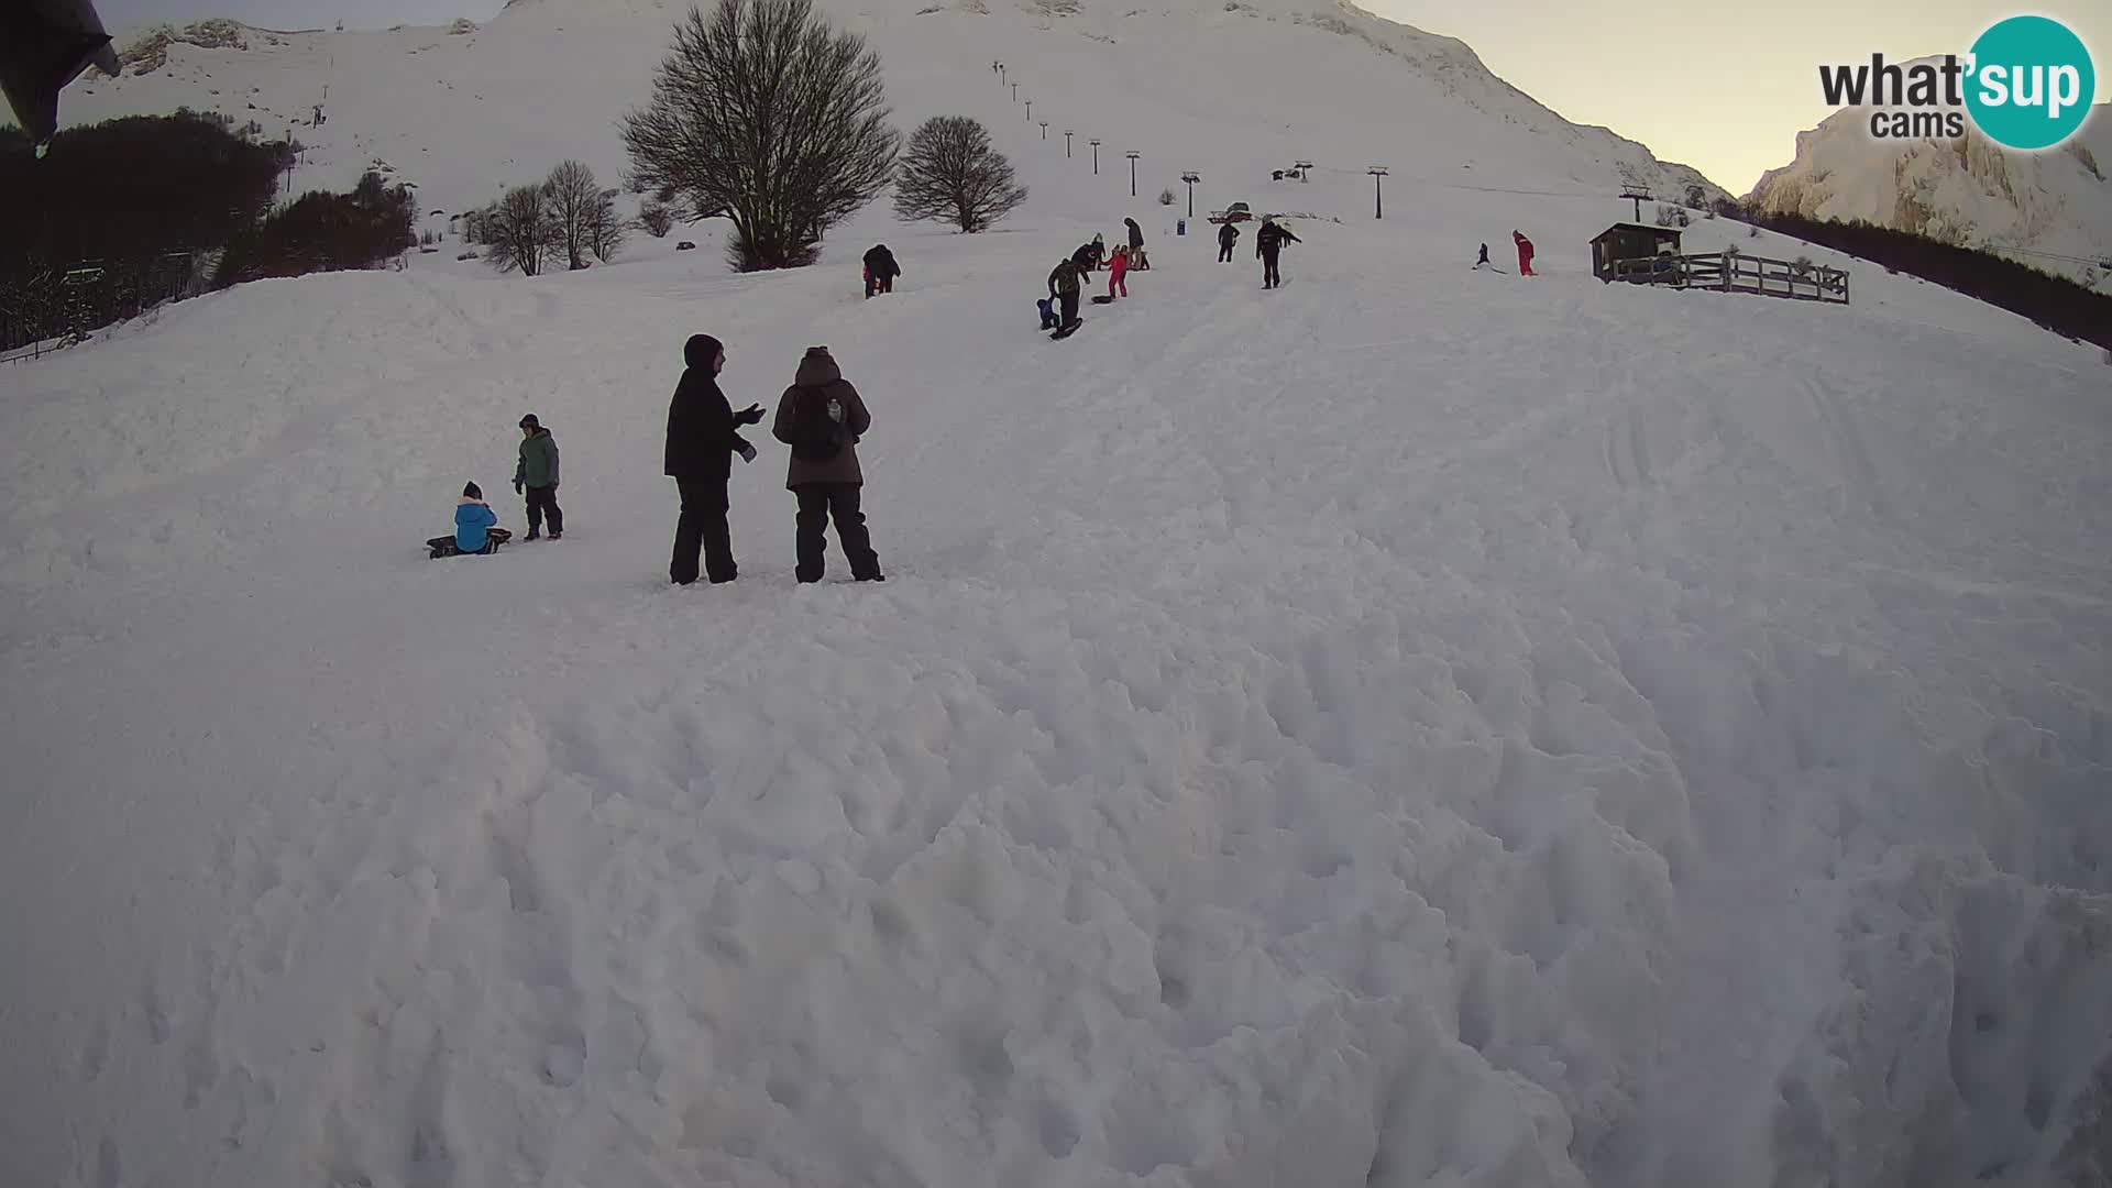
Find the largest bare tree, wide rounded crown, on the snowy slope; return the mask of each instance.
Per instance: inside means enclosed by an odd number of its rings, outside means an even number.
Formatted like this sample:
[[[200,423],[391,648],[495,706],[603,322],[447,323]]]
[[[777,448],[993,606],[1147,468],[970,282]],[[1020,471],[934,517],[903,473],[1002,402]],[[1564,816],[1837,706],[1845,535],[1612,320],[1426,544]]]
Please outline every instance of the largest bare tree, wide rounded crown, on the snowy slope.
[[[623,116],[631,182],[733,220],[735,268],[811,264],[895,165],[881,59],[813,0],[718,0],[676,25],[653,101]]]

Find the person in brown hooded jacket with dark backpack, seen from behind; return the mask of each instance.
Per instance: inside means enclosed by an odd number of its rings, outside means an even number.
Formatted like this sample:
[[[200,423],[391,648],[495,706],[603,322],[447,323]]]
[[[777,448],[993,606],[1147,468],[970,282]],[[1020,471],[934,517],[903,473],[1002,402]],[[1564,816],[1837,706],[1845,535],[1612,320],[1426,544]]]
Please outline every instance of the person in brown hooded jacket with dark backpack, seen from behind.
[[[828,552],[828,520],[836,520],[836,539],[851,562],[857,581],[887,581],[881,558],[866,535],[866,514],[857,507],[866,482],[857,467],[857,440],[872,427],[866,402],[843,378],[843,368],[828,347],[807,347],[792,387],[777,402],[771,435],[792,446],[786,488],[798,495],[798,567],[800,581],[822,581]]]

